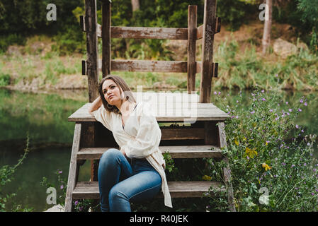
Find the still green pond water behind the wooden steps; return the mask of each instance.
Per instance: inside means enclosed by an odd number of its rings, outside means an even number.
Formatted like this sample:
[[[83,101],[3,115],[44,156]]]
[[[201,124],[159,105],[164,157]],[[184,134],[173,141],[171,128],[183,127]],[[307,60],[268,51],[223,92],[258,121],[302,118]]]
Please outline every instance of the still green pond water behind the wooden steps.
[[[228,95],[234,103],[239,91],[222,90],[221,95]],[[295,123],[305,128],[306,134],[318,133],[317,93],[282,92],[283,101],[288,101],[291,106],[302,96],[307,98],[308,106],[302,109]],[[242,107],[251,104],[249,90],[242,91],[242,97]],[[12,182],[4,187],[5,193],[17,194],[13,198],[17,204],[33,208],[33,211],[52,207],[46,203],[46,188],[40,185],[40,181],[47,177],[50,184],[59,186],[55,174],[57,169],[62,170],[62,177],[67,181],[74,135],[74,122],[67,121],[67,118],[86,102],[86,90],[35,94],[0,89],[0,167],[15,165],[29,138],[30,153],[16,170]],[[86,161],[81,167],[79,180],[89,178],[90,162]]]

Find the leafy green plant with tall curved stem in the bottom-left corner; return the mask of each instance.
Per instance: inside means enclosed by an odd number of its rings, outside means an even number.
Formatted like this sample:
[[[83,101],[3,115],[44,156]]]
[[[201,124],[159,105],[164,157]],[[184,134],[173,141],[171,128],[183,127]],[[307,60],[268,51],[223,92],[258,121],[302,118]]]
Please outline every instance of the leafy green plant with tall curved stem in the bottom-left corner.
[[[15,193],[13,194],[4,194],[4,187],[6,184],[10,183],[13,180],[13,174],[16,172],[16,169],[23,163],[23,160],[25,160],[25,157],[28,155],[29,152],[29,137],[26,141],[26,148],[24,150],[23,155],[18,160],[18,163],[13,166],[3,165],[0,167],[0,212],[6,212],[6,211],[30,211],[32,209],[22,208],[20,205],[13,205],[11,208],[8,208],[6,206],[6,203],[14,196],[16,196]]]

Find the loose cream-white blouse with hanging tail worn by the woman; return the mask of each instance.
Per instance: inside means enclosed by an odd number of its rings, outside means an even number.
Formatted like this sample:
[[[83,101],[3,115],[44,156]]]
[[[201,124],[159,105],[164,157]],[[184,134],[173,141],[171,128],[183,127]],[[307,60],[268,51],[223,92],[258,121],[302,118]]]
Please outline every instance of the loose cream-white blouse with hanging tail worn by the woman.
[[[137,106],[125,121],[125,129],[121,114],[108,112],[103,105],[92,112],[95,119],[113,132],[120,150],[124,150],[129,158],[143,158],[157,170],[162,179],[161,189],[164,194],[164,205],[172,208],[171,196],[166,182],[166,162],[159,150],[161,130],[151,105],[137,102]]]

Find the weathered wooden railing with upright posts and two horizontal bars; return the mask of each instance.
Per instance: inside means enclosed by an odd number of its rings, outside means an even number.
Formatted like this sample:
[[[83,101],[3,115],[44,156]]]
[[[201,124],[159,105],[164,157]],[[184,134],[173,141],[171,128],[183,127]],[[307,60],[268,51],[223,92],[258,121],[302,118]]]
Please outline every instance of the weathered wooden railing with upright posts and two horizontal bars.
[[[205,0],[203,25],[197,28],[197,6],[188,6],[188,28],[113,27],[110,25],[110,1],[102,2],[102,22],[97,23],[96,0],[86,0],[86,16],[80,16],[86,32],[87,59],[82,74],[89,78],[89,102],[98,95],[98,71],[103,77],[110,71],[150,71],[187,73],[188,93],[195,90],[195,74],[201,74],[200,102],[210,102],[212,77],[218,64],[213,63],[214,35],[220,32],[221,18],[216,18],[216,0]],[[98,59],[98,37],[103,42],[102,59]],[[188,40],[187,61],[111,60],[110,38]],[[195,61],[196,40],[202,39],[202,61]]]

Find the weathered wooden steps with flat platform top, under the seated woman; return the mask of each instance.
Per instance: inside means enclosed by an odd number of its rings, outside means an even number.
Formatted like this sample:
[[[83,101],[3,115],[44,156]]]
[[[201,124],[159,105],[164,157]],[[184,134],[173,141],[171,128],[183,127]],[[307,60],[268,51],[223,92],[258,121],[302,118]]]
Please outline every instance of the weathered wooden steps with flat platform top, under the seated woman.
[[[137,93],[133,93],[138,97]],[[142,93],[142,99],[137,102],[149,102],[154,109],[166,106],[161,102],[152,102],[149,95],[155,93]],[[162,95],[162,94],[161,94]],[[183,93],[183,97],[184,97]],[[188,95],[186,93],[186,95]],[[166,100],[172,100],[174,93],[165,93]],[[198,95],[191,95],[198,100]],[[162,96],[161,96],[162,97]],[[191,99],[189,98],[189,99]],[[150,100],[150,101],[149,101]],[[210,103],[182,102],[182,105],[173,105],[166,109],[164,114],[157,114],[156,118],[161,129],[161,142],[159,149],[162,153],[170,153],[171,157],[176,158],[203,158],[212,157],[218,160],[225,160],[227,157],[222,154],[220,148],[225,147],[225,119],[229,116]],[[87,109],[91,103],[86,103],[69,117],[69,121],[75,121],[74,140],[72,146],[71,163],[69,167],[69,179],[67,183],[67,197],[65,201],[65,211],[72,210],[74,199],[98,199],[99,190],[97,182],[98,160],[109,148],[118,148],[113,138],[113,133],[106,129],[101,123],[96,121],[88,113]],[[183,106],[183,107],[180,107]],[[186,107],[189,111],[185,111]],[[180,111],[180,109],[182,109]],[[179,110],[179,111],[178,111]],[[193,111],[195,110],[195,111]],[[176,112],[181,112],[177,114]],[[191,114],[192,112],[192,114]],[[156,113],[156,112],[155,112]],[[166,123],[183,123],[191,117],[195,119],[188,126],[165,126]],[[185,124],[186,125],[186,124]],[[195,141],[195,145],[189,145],[189,141]],[[119,148],[118,148],[119,149]],[[92,169],[90,182],[78,182],[79,167],[85,160],[95,160]],[[166,172],[168,174],[168,172]],[[198,181],[198,182],[168,182],[171,198],[202,197],[212,186],[215,191],[227,189],[229,210],[235,211],[233,202],[231,174],[227,167],[223,169],[225,184],[221,182]],[[159,194],[158,197],[163,197]]]

